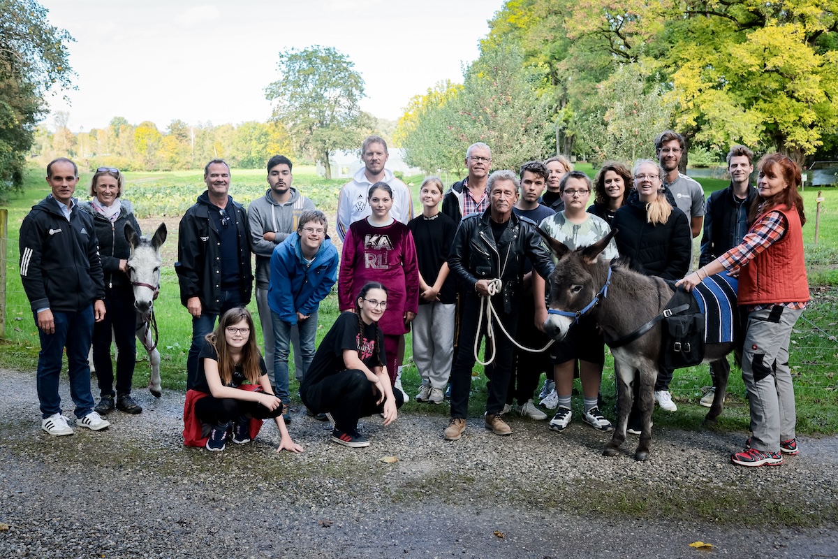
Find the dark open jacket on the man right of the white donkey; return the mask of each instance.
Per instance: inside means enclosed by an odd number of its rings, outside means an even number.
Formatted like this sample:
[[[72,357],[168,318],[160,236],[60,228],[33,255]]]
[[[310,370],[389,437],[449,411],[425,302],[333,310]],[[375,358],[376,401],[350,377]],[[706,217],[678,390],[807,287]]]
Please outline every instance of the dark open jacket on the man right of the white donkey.
[[[186,306],[189,298],[201,300],[202,312],[218,314],[221,310],[221,238],[218,222],[210,217],[209,194],[198,197],[197,203],[186,210],[178,228],[178,261],[174,270],[180,283],[180,303]],[[247,212],[241,204],[227,197],[226,209],[239,235],[239,266],[241,271],[241,303],[251,302],[253,267],[251,266],[251,228]]]

